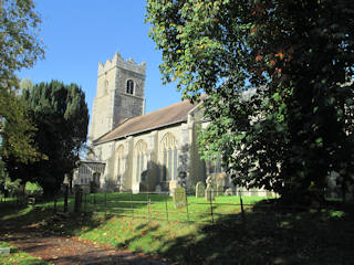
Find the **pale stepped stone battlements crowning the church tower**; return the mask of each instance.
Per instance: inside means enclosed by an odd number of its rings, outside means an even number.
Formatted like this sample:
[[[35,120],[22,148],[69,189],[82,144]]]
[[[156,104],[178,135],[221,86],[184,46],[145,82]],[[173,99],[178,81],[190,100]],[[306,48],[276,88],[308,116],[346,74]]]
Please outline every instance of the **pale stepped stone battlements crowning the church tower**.
[[[105,74],[107,71],[112,70],[113,67],[119,67],[123,70],[128,70],[135,73],[139,73],[145,76],[146,72],[146,63],[143,62],[140,64],[137,64],[134,62],[133,59],[128,59],[124,61],[124,59],[121,56],[118,52],[116,52],[113,56],[113,59],[108,59],[104,64],[98,63],[98,72],[97,75]]]

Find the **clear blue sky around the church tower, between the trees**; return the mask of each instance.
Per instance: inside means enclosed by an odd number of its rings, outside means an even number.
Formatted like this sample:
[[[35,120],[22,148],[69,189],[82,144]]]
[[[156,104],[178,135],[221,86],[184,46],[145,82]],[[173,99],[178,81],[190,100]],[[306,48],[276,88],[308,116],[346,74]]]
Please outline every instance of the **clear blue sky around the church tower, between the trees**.
[[[42,17],[40,36],[45,59],[19,73],[32,82],[76,83],[91,109],[96,93],[98,62],[118,51],[127,60],[146,62],[146,112],[180,100],[176,85],[163,86],[158,65],[162,53],[148,38],[145,0],[37,0]]]

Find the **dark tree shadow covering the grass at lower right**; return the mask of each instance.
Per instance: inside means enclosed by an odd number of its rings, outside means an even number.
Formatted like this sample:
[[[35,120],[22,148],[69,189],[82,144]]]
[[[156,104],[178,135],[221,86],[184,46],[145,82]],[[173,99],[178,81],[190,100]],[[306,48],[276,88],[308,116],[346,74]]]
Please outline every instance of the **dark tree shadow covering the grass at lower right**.
[[[232,219],[231,219],[232,218]],[[351,264],[354,218],[348,209],[253,211],[202,225],[166,242],[162,256],[179,264]]]

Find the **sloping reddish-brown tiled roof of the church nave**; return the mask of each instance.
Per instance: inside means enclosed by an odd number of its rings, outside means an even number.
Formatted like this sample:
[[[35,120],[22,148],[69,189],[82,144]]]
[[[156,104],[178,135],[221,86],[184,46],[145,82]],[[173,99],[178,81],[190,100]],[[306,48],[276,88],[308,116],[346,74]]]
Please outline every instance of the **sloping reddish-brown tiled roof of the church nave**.
[[[140,134],[143,131],[157,129],[167,125],[186,121],[188,113],[196,106],[196,103],[191,104],[189,100],[183,100],[149,114],[129,118],[118,125],[115,129],[100,137],[94,142],[101,144],[122,137]]]

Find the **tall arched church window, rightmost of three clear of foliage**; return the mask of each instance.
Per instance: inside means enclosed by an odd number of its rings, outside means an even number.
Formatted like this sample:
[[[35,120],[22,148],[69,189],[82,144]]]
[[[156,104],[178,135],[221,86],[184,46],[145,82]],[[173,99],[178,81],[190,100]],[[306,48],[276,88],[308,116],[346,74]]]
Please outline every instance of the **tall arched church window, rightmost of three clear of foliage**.
[[[162,140],[163,181],[177,180],[178,150],[176,137],[167,132]]]

